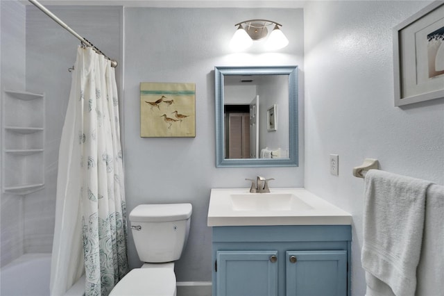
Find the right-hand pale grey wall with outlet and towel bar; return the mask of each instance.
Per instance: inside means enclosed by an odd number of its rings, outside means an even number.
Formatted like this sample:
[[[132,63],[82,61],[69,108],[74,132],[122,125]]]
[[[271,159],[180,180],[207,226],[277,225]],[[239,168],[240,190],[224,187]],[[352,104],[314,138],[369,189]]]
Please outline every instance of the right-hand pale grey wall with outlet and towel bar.
[[[305,187],[353,215],[352,295],[361,268],[363,179],[352,167],[444,184],[444,99],[393,104],[392,28],[429,1],[307,1],[305,6]],[[339,176],[329,171],[339,154]]]

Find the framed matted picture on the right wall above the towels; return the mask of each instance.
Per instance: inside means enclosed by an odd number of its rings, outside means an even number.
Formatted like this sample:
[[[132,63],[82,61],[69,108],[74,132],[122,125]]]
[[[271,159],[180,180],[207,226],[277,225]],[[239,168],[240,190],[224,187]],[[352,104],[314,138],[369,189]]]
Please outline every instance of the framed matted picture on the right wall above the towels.
[[[395,106],[444,97],[444,1],[393,28],[393,70]]]

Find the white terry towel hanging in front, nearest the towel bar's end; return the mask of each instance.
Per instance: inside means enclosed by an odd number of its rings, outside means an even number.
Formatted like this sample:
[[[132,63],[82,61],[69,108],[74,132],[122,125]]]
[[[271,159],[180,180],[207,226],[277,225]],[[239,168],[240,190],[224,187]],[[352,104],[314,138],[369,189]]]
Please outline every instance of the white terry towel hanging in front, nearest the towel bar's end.
[[[367,296],[413,296],[429,181],[370,170],[365,177],[364,243]],[[390,289],[393,291],[390,294]]]

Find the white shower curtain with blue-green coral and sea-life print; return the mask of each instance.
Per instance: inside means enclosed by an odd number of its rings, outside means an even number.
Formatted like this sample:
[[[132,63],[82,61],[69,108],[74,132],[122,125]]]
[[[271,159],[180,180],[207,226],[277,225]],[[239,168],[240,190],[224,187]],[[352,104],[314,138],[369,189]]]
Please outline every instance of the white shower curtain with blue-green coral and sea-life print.
[[[85,274],[85,295],[108,295],[128,272],[126,204],[114,68],[79,47],[60,141],[51,295]]]

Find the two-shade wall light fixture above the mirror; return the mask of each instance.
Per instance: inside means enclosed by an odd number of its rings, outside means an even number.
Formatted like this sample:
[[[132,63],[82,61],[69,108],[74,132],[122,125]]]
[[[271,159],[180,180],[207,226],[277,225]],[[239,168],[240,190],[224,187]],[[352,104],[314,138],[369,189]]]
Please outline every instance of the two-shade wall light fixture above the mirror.
[[[289,44],[289,40],[280,31],[282,24],[268,19],[249,19],[235,24],[238,26],[230,41],[230,47],[235,50],[244,50],[253,44],[253,40],[262,40],[268,35],[267,26],[273,26],[273,31],[266,40],[267,49],[282,49]]]

